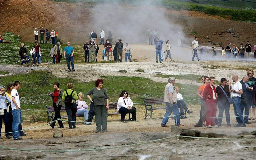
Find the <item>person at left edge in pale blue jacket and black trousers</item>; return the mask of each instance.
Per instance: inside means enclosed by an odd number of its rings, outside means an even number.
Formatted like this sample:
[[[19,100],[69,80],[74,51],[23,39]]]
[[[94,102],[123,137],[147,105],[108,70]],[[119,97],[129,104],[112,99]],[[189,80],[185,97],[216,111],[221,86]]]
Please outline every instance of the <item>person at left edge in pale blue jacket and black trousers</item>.
[[[4,126],[5,126],[5,136],[6,138],[11,138],[10,134],[8,132],[11,132],[10,130],[10,121],[8,117],[8,110],[7,110],[7,103],[10,103],[10,98],[5,93],[5,86],[0,86],[0,139],[3,139],[1,137],[1,130],[2,130],[2,122],[4,120]],[[3,114],[3,115],[2,115]]]

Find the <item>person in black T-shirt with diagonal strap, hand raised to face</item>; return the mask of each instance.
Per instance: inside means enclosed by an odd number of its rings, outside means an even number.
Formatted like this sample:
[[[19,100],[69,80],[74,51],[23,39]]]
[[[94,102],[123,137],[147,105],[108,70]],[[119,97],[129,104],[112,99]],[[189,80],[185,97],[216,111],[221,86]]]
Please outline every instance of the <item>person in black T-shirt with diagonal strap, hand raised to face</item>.
[[[226,121],[227,121],[227,125],[231,126],[230,124],[230,114],[229,114],[229,108],[230,108],[230,104],[228,103],[228,99],[226,97],[226,95],[230,98],[230,92],[228,89],[228,85],[227,85],[227,79],[222,78],[220,79],[220,85],[216,87],[216,93],[218,96],[218,108],[219,108],[219,123],[217,124],[218,126],[221,125],[222,123],[222,117],[223,117],[223,112],[225,110],[225,117],[226,117]],[[229,81],[228,81],[229,83]]]

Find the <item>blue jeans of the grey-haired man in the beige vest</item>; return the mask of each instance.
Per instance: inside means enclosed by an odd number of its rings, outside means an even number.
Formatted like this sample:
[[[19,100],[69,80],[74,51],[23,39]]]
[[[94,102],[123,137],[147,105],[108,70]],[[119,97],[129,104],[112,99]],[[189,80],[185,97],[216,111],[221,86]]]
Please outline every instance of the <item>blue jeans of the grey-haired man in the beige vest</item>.
[[[166,124],[168,122],[169,116],[171,115],[171,113],[173,112],[174,115],[174,121],[175,121],[175,125],[178,126],[180,124],[180,116],[178,116],[179,114],[179,108],[178,108],[178,104],[174,104],[171,106],[171,103],[166,102],[166,114],[164,114],[163,121],[161,124]]]

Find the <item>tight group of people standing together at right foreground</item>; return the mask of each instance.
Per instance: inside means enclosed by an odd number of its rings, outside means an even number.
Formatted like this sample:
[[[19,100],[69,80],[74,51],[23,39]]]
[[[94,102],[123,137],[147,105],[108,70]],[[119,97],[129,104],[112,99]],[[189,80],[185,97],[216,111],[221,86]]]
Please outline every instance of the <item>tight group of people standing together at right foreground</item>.
[[[251,119],[256,121],[256,79],[253,77],[253,70],[248,70],[247,75],[244,75],[241,81],[239,81],[238,75],[233,75],[232,80],[234,85],[230,80],[222,78],[220,79],[221,84],[215,88],[215,78],[213,76],[202,76],[201,80],[204,84],[201,85],[197,91],[201,102],[201,118],[195,127],[219,127],[222,124],[224,110],[227,125],[231,126],[229,114],[230,104],[233,104],[234,114],[237,116],[237,124],[234,127],[246,127],[246,124],[251,124],[251,122],[249,122]],[[218,119],[215,118],[217,105],[219,108]],[[250,116],[251,107],[252,118]]]

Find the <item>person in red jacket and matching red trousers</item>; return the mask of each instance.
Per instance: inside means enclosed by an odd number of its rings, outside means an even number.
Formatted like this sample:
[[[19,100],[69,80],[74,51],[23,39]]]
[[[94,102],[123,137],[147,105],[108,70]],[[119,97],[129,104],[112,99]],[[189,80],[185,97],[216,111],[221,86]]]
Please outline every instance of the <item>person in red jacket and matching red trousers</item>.
[[[214,77],[209,78],[210,83],[204,88],[204,100],[207,108],[206,113],[206,127],[219,127],[215,123],[216,112],[217,112],[217,94],[215,91]],[[212,118],[207,118],[212,117]]]

